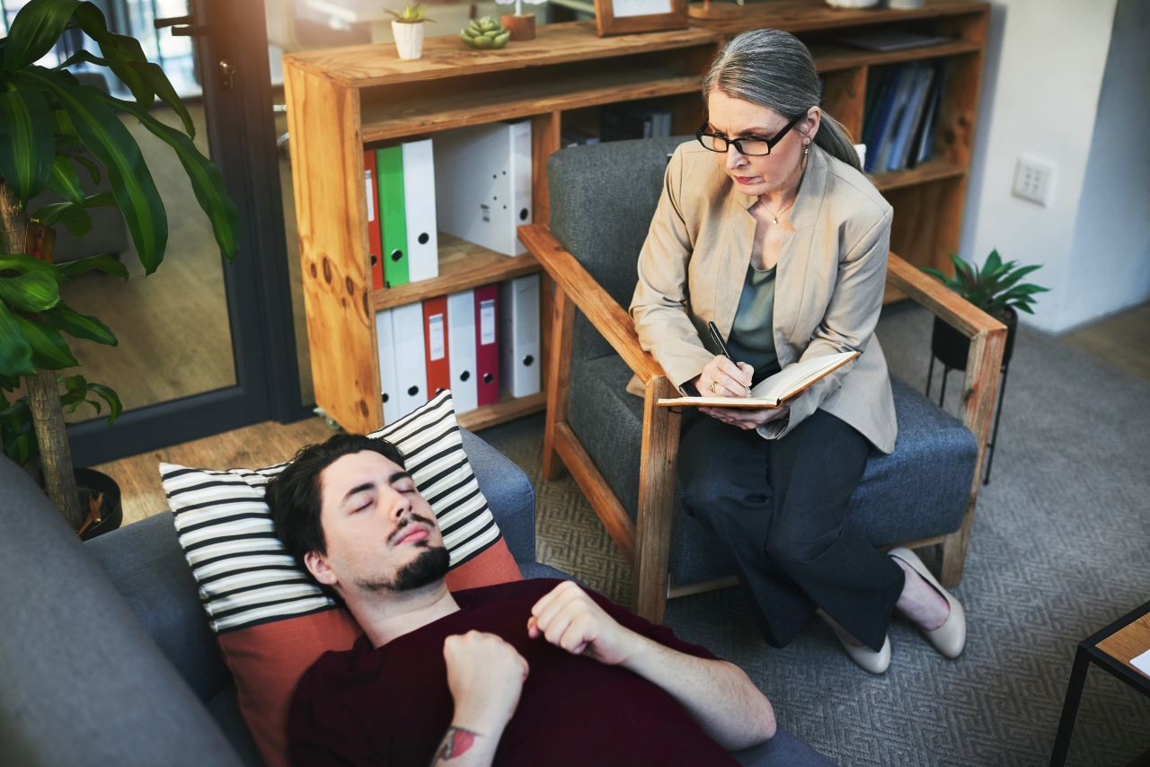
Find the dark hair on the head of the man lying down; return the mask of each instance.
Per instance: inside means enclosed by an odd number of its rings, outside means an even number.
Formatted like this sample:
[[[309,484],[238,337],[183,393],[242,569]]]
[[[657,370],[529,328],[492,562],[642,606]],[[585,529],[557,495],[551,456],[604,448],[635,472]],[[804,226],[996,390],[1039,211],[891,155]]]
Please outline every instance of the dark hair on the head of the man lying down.
[[[268,483],[267,500],[276,534],[300,566],[304,554],[309,551],[328,553],[320,522],[320,474],[344,455],[363,451],[379,453],[404,467],[404,454],[386,439],[337,434],[327,442],[300,450],[291,465]]]

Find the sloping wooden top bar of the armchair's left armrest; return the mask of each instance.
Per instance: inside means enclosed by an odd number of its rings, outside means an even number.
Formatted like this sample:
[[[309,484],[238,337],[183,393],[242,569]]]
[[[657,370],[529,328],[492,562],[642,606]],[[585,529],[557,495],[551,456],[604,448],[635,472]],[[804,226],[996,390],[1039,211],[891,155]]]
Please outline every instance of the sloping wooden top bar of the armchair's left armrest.
[[[555,239],[545,224],[520,227],[519,239],[555,282],[555,286],[578,307],[644,384],[656,376],[665,375],[662,366],[639,345],[635,323],[627,309],[599,286],[595,277]]]

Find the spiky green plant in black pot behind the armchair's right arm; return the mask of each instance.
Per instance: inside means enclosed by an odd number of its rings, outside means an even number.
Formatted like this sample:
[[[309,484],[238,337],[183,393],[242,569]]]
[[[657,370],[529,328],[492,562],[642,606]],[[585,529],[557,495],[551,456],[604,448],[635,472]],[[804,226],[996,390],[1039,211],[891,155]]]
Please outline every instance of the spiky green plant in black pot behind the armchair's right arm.
[[[1035,301],[1035,293],[1044,293],[1049,290],[1020,281],[1035,269],[1040,269],[1042,264],[1020,267],[1017,261],[1004,262],[997,250],[990,252],[981,269],[977,264],[967,263],[953,253],[950,254],[950,260],[954,264],[953,278],[937,269],[923,269],[923,271],[934,275],[952,291],[1006,325],[1003,365],[1007,365],[1011,353],[1014,351],[1018,313],[1034,314],[1030,306]],[[946,367],[965,370],[969,339],[935,317],[930,351]]]

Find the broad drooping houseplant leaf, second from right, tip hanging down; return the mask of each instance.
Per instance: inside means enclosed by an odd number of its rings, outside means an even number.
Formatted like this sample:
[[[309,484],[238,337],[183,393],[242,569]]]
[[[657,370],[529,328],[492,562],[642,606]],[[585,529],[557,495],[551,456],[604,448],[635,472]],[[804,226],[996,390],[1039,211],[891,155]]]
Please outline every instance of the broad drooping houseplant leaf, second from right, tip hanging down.
[[[72,85],[56,75],[33,67],[23,76],[52,92],[84,146],[107,170],[140,263],[146,274],[152,274],[168,245],[168,216],[139,146],[99,91]]]

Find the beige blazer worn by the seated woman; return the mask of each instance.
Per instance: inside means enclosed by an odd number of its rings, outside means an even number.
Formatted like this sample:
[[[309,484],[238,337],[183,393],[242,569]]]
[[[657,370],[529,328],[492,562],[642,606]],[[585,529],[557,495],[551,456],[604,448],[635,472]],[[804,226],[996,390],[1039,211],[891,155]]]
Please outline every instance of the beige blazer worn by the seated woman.
[[[754,244],[749,209],[756,201],[735,189],[716,155],[697,141],[678,146],[667,164],[630,313],[643,348],[676,386],[714,356],[700,340],[708,321],[723,337],[730,333]],[[782,366],[852,350],[860,355],[796,399],[789,419],[760,427],[765,438],[789,434],[821,408],[880,451],[895,448],[895,400],[874,337],[890,220],[890,205],[862,174],[812,145],[790,214],[793,230],[780,245],[775,351]]]

